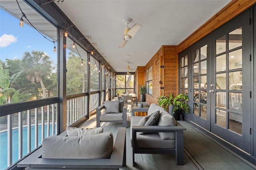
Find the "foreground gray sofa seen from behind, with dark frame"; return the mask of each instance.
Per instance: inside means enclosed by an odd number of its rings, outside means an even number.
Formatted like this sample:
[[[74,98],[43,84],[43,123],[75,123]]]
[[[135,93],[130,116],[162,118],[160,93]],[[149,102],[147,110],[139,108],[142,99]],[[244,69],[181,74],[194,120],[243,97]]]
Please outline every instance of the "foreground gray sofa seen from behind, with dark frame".
[[[112,140],[110,132],[67,136],[65,131],[59,136],[45,138],[42,147],[26,155],[17,167],[30,170],[119,169],[126,166],[126,128],[118,128],[114,146]],[[110,155],[106,155],[109,150],[106,146],[111,146]]]

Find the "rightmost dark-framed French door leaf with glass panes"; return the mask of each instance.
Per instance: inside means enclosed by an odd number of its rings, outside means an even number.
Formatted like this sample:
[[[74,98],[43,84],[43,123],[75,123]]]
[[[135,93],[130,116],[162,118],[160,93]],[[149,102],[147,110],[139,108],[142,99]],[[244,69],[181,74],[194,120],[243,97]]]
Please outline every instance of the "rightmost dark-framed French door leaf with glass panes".
[[[250,13],[241,14],[211,35],[211,132],[250,153]]]

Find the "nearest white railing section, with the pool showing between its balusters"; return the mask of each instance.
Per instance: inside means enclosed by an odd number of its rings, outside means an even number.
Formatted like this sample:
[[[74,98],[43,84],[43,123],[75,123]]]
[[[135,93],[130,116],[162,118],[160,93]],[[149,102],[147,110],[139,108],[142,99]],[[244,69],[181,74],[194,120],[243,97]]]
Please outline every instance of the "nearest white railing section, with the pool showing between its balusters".
[[[45,137],[57,134],[57,103],[2,116],[0,120],[0,169],[5,169],[40,146]]]

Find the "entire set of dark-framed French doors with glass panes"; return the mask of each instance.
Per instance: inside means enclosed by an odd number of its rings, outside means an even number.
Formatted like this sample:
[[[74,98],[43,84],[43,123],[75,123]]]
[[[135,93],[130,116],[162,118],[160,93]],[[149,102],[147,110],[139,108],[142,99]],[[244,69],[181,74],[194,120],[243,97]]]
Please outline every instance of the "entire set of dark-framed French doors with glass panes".
[[[187,120],[248,153],[253,90],[249,18],[248,10],[179,54],[180,93],[190,99]]]

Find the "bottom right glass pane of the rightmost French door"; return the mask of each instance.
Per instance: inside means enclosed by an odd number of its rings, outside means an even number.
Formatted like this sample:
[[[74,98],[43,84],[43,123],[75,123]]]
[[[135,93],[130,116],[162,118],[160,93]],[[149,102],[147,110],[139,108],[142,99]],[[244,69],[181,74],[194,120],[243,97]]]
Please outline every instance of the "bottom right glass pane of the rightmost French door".
[[[228,115],[229,129],[242,134],[242,115],[236,113],[228,113]]]

